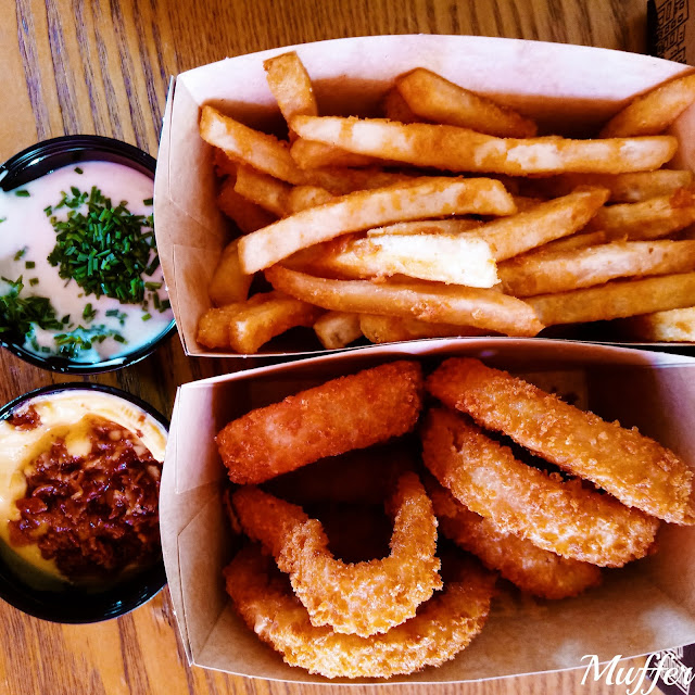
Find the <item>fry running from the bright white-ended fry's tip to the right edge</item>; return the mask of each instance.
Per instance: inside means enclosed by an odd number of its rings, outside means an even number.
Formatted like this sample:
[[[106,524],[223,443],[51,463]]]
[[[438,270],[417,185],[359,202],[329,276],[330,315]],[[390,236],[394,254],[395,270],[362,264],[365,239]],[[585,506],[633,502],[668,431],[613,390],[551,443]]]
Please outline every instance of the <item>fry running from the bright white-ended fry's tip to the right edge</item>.
[[[566,292],[622,277],[695,270],[695,241],[627,241],[517,256],[500,264],[502,289],[515,296]]]

